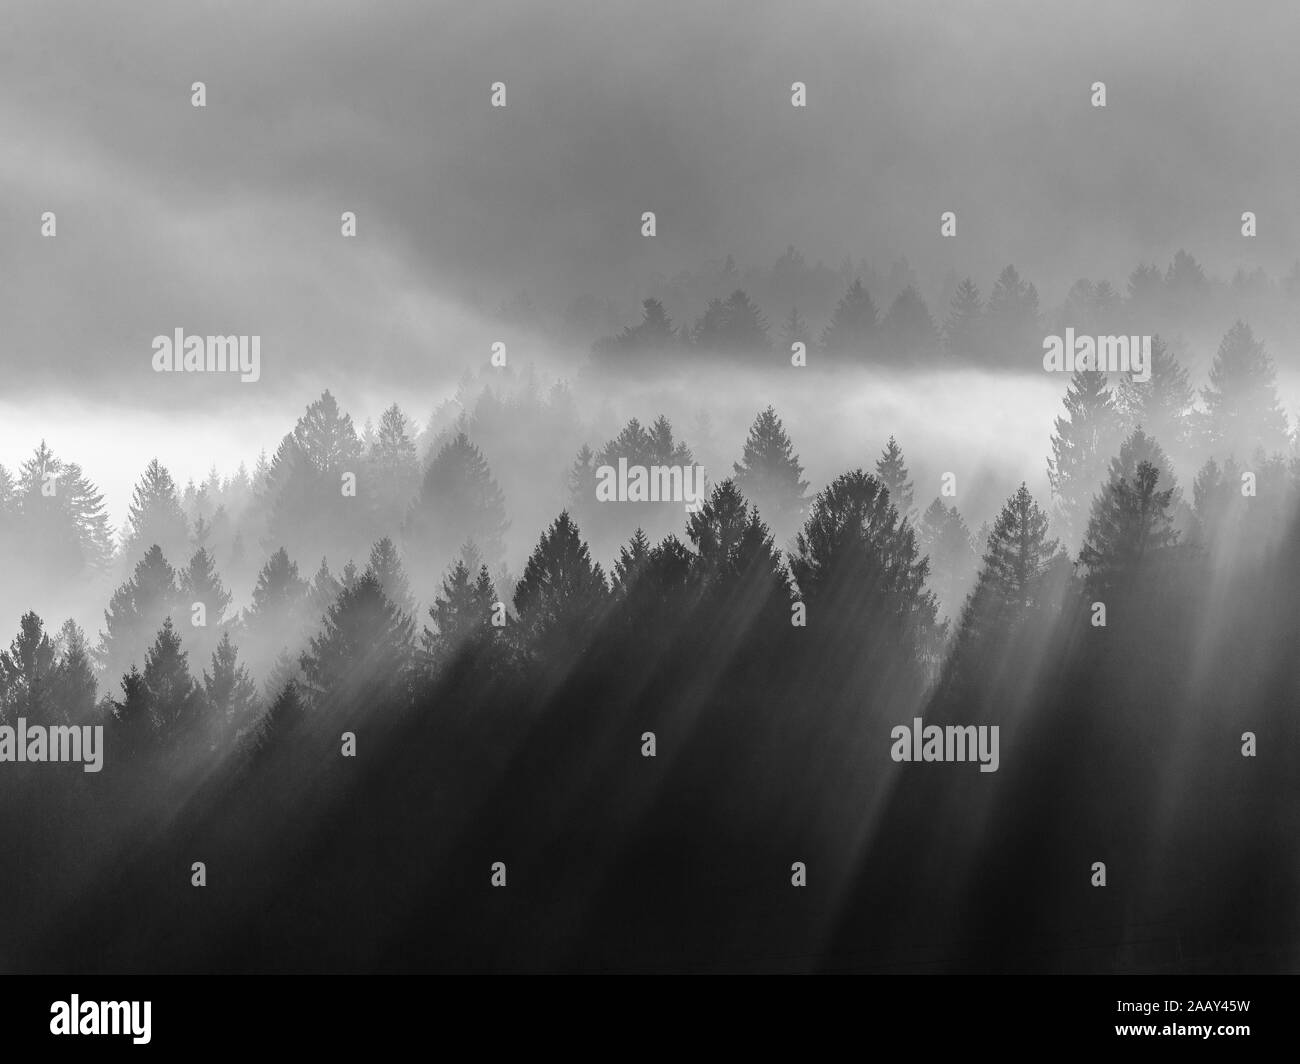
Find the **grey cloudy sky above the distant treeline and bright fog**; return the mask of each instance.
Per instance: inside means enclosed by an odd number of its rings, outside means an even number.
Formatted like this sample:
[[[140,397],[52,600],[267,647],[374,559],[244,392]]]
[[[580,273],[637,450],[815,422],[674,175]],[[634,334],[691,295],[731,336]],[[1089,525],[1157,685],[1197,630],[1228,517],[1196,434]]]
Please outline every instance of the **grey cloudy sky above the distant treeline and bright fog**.
[[[260,333],[259,402],[454,379],[486,351],[473,307],[630,303],[653,272],[786,243],[985,290],[1014,261],[1052,298],[1183,246],[1278,269],[1300,17],[1222,8],[10,4],[5,392],[211,402],[148,369],[176,326]]]

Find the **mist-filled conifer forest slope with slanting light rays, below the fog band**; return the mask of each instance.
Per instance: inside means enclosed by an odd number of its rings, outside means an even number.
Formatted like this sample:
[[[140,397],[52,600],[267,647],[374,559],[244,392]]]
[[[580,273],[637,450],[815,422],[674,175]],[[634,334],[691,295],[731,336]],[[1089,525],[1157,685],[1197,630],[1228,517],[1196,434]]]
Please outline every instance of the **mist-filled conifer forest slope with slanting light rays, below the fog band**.
[[[696,458],[664,416],[580,438],[563,382],[422,432],[325,392],[251,471],[151,463],[116,535],[42,442],[0,468],[10,592],[116,589],[98,631],[21,617],[0,723],[105,758],[0,770],[0,960],[1294,966],[1295,437],[1244,323],[1200,395],[1152,369],[1063,380],[1050,497],[978,531],[878,428],[810,484],[775,407],[697,512],[601,503]],[[488,442],[572,455],[517,572]],[[1000,769],[894,762],[916,717],[998,725]]]

